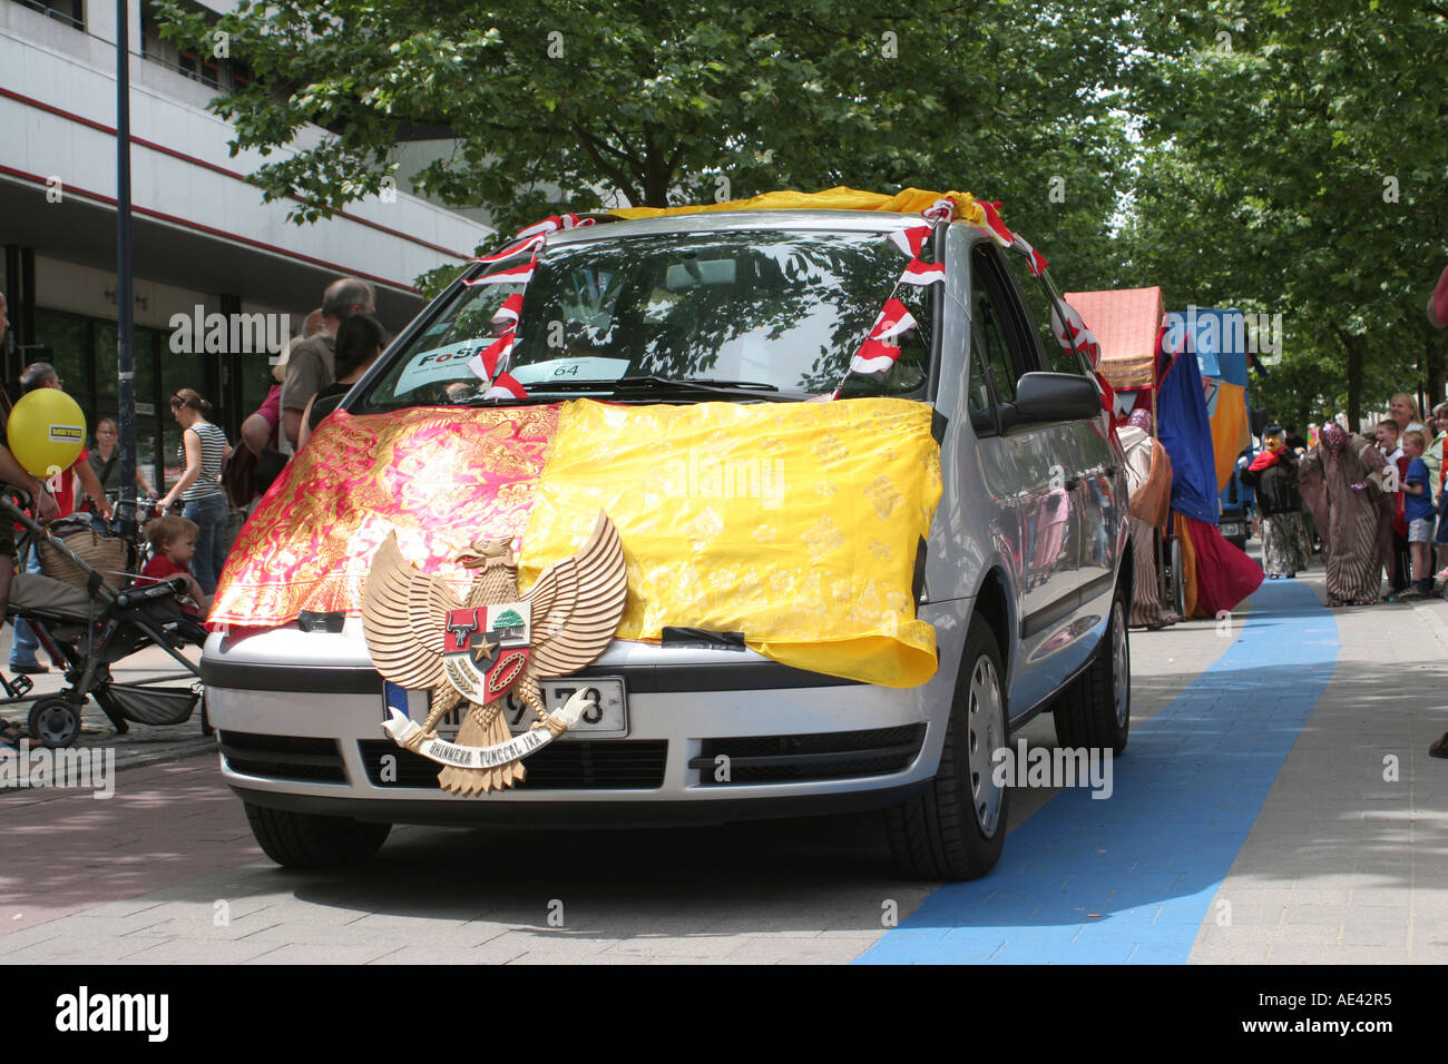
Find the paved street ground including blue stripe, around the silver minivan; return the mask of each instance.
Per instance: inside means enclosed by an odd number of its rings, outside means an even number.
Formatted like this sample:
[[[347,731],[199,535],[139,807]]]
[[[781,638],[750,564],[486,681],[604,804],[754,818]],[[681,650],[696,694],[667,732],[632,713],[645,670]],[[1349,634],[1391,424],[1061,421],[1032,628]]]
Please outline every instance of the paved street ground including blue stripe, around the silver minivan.
[[[1448,602],[1322,598],[1319,569],[1132,633],[1111,796],[1014,790],[1001,864],[951,886],[901,879],[875,816],[398,827],[361,869],[282,871],[195,721],[98,718],[113,798],[0,795],[0,964],[1448,963]]]

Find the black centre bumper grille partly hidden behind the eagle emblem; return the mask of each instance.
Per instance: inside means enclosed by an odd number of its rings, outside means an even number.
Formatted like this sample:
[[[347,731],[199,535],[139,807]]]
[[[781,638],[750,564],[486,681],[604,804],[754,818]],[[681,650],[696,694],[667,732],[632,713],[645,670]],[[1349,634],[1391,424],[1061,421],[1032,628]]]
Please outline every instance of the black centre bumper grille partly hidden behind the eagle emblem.
[[[437,790],[442,766],[385,738],[358,741],[366,776],[378,788]],[[549,743],[523,761],[523,790],[657,790],[663,786],[666,740]],[[384,757],[395,760],[384,761]]]

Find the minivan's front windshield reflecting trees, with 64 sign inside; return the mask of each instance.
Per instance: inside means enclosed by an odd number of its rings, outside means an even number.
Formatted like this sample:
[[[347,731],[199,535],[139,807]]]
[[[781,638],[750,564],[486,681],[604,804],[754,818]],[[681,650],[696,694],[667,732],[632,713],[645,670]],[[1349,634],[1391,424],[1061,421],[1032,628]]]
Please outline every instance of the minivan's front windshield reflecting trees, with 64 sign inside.
[[[527,285],[507,369],[534,401],[804,400],[835,389],[905,266],[885,232],[665,233],[550,249]],[[502,266],[515,263],[498,263]],[[498,269],[498,265],[491,266]],[[469,362],[520,287],[459,287],[392,352],[356,413],[484,402]],[[924,394],[931,288],[895,292],[918,323],[843,395]],[[487,400],[492,402],[494,400]]]

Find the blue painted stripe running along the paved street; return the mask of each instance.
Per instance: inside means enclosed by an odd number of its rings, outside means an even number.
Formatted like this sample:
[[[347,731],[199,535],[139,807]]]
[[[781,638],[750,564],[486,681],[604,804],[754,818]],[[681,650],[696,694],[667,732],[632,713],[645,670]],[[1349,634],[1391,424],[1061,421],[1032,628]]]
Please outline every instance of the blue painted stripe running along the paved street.
[[[1061,790],[995,871],[935,890],[856,963],[1184,964],[1338,657],[1308,586],[1263,583],[1251,607],[1226,653],[1132,728],[1111,798]]]

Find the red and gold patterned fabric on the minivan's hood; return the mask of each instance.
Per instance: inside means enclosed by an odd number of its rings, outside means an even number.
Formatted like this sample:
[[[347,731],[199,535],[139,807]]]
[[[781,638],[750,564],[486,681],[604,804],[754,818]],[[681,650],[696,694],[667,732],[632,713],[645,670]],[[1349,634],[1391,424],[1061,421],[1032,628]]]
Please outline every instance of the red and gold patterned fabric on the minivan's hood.
[[[456,575],[465,589],[458,552],[527,527],[557,411],[334,413],[237,536],[209,627],[274,627],[304,609],[359,614],[372,556],[394,530],[408,560]]]

